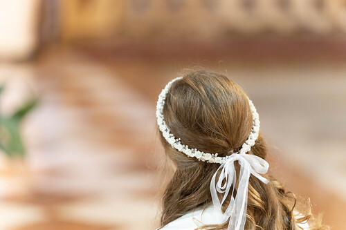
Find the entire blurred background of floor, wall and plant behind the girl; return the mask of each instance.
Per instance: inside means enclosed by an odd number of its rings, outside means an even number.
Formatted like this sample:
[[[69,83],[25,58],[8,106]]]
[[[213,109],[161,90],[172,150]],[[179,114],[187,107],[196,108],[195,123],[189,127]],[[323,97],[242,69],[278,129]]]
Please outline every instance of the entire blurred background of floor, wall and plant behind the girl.
[[[345,0],[0,1],[0,229],[155,229],[156,98],[224,73],[271,173],[346,226]]]

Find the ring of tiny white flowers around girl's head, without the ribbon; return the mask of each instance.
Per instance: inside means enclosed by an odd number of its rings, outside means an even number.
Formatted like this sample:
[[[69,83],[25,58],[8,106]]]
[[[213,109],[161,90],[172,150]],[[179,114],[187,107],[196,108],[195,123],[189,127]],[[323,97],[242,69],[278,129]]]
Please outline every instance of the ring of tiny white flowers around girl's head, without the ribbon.
[[[202,151],[197,150],[196,148],[189,148],[187,145],[181,144],[181,139],[174,137],[172,133],[170,133],[170,129],[167,127],[165,123],[165,119],[163,117],[163,106],[165,105],[165,99],[167,97],[168,90],[173,82],[176,80],[182,79],[183,77],[176,77],[172,81],[168,82],[168,84],[163,88],[160,95],[158,95],[158,101],[156,104],[156,118],[158,128],[165,137],[165,140],[171,144],[173,148],[181,153],[185,153],[189,157],[196,157],[198,160],[208,163],[219,163],[223,164],[226,162],[230,155],[226,157],[218,157],[218,153],[203,153]],[[248,99],[248,104],[250,104],[251,112],[253,114],[253,128],[251,130],[250,135],[246,142],[242,145],[242,148],[237,152],[239,154],[245,154],[250,151],[251,147],[255,145],[255,141],[257,140],[258,133],[260,132],[260,117],[256,111],[253,102],[251,99]]]

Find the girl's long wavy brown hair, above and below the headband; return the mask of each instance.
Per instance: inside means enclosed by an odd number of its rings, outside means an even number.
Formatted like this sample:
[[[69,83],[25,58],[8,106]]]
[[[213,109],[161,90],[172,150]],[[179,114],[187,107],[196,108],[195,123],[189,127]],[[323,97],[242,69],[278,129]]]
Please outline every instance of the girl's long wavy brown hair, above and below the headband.
[[[176,138],[181,138],[182,144],[205,153],[219,153],[219,156],[239,150],[252,127],[250,107],[242,88],[226,76],[210,70],[190,71],[174,82],[167,93],[163,115],[170,131]],[[210,180],[219,164],[187,157],[172,148],[162,133],[161,142],[167,156],[176,164],[176,171],[163,195],[161,224],[165,225],[185,213],[212,204]],[[261,134],[248,154],[265,159],[266,146]],[[239,175],[237,162],[236,168]],[[309,219],[310,229],[327,229],[320,222],[313,221],[313,224],[310,211],[295,218],[293,193],[286,192],[273,177],[263,176],[270,180],[268,184],[253,175],[249,180],[246,230],[295,230],[299,229],[297,223]],[[227,207],[228,203],[224,206]],[[228,222],[225,222],[198,229],[227,227]]]

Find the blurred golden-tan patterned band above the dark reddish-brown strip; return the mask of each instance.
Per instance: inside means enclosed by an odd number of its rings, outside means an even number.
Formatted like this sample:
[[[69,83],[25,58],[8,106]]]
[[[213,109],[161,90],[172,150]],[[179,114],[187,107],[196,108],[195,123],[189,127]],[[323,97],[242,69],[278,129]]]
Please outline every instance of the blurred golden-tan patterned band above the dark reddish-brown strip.
[[[346,30],[345,0],[64,0],[61,10],[65,40],[196,40]]]

